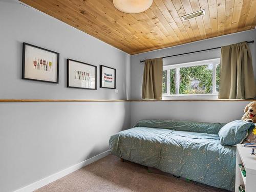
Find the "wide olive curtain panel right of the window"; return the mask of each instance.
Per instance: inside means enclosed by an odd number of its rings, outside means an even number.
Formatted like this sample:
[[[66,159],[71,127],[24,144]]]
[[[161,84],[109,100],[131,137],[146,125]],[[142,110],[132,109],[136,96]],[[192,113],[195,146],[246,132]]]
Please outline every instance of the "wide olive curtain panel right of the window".
[[[255,96],[251,51],[247,42],[222,47],[219,99],[249,99]]]

